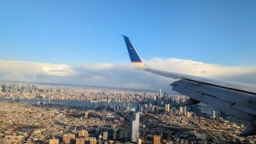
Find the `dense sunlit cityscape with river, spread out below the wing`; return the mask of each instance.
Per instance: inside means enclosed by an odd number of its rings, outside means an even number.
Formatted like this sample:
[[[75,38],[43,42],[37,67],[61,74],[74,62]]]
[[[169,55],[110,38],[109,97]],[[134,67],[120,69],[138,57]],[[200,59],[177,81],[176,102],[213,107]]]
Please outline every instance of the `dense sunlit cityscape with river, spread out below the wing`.
[[[8,83],[0,89],[0,143],[254,143],[248,123],[188,97],[85,86]]]

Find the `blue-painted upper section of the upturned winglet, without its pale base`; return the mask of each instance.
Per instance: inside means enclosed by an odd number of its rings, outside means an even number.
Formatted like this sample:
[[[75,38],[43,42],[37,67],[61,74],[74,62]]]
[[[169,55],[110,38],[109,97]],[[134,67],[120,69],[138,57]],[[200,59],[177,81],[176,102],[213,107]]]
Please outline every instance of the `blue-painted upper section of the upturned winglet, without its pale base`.
[[[142,62],[141,58],[139,58],[138,52],[135,49],[134,45],[130,42],[130,39],[124,35],[122,35],[123,38],[125,38],[126,41],[126,47],[128,50],[128,53],[130,55],[130,61],[131,62]]]

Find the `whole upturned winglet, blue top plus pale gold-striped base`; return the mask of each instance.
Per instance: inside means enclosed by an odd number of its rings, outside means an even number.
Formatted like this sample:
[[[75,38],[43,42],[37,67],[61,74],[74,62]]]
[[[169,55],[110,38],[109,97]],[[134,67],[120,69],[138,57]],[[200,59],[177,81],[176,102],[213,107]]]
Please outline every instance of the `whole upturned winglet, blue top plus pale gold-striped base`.
[[[142,62],[142,59],[139,57],[137,50],[135,49],[132,42],[130,42],[130,38],[122,35],[125,38],[126,47],[130,56],[130,62],[135,66],[135,68],[144,70],[146,65]]]

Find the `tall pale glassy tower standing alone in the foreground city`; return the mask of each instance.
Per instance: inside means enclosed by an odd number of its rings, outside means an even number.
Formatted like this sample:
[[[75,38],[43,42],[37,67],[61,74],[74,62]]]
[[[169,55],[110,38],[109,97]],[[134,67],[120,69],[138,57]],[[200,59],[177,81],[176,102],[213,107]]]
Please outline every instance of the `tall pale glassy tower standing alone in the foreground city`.
[[[134,113],[130,118],[130,141],[136,142],[139,137],[139,113]]]

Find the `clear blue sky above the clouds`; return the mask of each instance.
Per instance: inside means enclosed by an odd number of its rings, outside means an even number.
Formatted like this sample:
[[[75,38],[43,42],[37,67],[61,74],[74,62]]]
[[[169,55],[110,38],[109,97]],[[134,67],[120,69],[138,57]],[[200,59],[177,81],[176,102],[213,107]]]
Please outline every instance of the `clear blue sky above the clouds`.
[[[255,66],[256,1],[0,1],[0,59],[63,64],[142,58]]]

